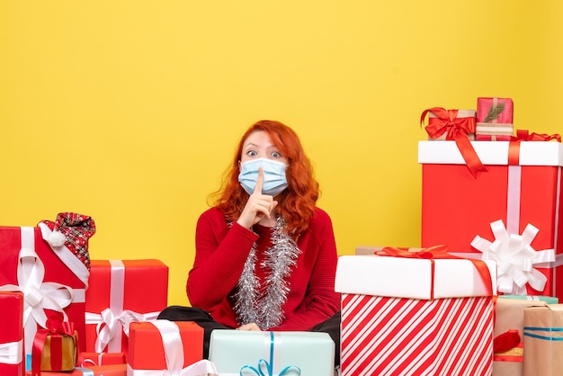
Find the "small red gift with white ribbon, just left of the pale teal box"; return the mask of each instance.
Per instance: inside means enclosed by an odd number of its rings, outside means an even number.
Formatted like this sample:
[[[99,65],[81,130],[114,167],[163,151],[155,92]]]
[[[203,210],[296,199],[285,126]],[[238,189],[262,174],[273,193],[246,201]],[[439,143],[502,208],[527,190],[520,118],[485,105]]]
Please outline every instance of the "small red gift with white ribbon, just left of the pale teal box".
[[[131,376],[161,370],[180,374],[202,356],[203,328],[194,322],[154,320],[130,325],[127,363]]]

